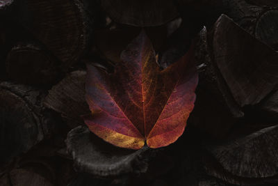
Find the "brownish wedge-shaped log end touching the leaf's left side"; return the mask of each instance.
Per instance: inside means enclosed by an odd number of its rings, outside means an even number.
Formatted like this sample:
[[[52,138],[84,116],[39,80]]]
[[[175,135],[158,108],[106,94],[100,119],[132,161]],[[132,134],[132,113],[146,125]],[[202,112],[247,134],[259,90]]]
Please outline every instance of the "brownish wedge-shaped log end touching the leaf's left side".
[[[70,73],[51,88],[44,100],[44,105],[61,114],[70,128],[81,125],[81,115],[90,113],[85,102],[85,75],[85,71]]]

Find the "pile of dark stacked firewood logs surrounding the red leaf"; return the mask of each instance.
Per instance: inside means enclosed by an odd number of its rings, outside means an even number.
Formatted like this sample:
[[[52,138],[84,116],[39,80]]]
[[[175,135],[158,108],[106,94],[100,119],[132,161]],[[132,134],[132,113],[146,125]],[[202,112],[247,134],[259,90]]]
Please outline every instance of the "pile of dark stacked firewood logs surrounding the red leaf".
[[[276,0],[0,0],[0,186],[278,185]],[[85,63],[113,72],[145,29],[161,69],[194,41],[195,109],[129,150],[82,115]]]

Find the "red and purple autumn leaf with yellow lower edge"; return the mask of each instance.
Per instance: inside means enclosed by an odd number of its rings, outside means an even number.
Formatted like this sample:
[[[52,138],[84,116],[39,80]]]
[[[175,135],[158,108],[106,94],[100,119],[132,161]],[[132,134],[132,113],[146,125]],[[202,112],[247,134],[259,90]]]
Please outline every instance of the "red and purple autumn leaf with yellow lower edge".
[[[159,148],[174,143],[193,110],[197,71],[191,49],[161,70],[144,31],[122,52],[112,74],[88,65],[85,124],[122,148]]]

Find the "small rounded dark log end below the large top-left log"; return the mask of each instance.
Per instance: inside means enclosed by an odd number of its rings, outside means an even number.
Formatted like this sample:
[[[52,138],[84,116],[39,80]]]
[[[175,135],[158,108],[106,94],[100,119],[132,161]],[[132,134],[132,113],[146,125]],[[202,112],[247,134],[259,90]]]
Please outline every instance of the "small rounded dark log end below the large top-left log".
[[[6,59],[8,77],[24,84],[50,84],[59,71],[56,59],[38,45],[18,44]]]

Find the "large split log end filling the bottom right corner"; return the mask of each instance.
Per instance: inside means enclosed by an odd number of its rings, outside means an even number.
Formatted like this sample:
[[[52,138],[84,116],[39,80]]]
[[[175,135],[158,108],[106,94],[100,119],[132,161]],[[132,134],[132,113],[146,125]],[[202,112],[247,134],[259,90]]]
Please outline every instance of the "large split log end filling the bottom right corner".
[[[206,167],[207,172],[237,185],[278,183],[277,139],[278,126],[275,125],[236,141],[208,147],[219,164],[212,161]]]

